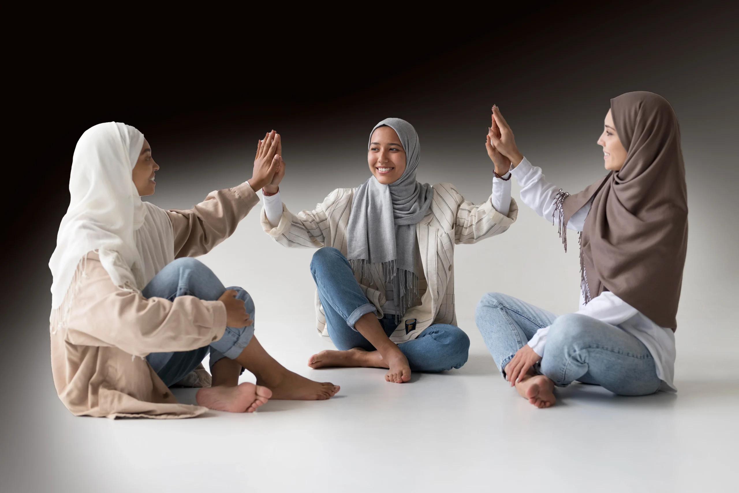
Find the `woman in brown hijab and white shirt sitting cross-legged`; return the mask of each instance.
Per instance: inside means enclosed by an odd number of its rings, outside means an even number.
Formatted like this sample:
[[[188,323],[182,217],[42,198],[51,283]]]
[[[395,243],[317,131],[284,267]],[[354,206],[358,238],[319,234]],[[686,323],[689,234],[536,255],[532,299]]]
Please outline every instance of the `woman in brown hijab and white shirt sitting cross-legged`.
[[[488,293],[477,327],[501,373],[537,407],[554,387],[602,385],[625,396],[675,391],[675,314],[687,249],[687,190],[680,129],[667,100],[628,92],[610,101],[598,140],[602,179],[570,195],[518,151],[497,106],[488,154],[517,163],[521,199],[547,220],[580,232],[581,297],[560,317]]]

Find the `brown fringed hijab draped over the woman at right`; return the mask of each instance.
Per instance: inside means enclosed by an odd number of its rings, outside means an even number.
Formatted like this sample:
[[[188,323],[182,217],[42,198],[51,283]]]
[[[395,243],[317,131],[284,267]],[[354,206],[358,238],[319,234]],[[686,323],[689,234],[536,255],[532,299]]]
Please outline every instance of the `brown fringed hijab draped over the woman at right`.
[[[627,149],[624,166],[580,193],[562,194],[562,226],[592,199],[580,237],[585,302],[610,291],[674,331],[688,239],[678,118],[653,92],[621,94],[610,108]]]

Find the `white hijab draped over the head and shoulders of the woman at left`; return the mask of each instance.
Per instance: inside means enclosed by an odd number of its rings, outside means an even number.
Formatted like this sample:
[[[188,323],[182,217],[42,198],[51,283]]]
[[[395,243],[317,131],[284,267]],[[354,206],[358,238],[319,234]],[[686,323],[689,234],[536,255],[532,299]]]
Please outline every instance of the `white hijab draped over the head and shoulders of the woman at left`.
[[[77,142],[69,208],[49,261],[52,310],[63,303],[89,252],[98,251],[116,286],[137,292],[174,260],[169,218],[159,207],[141,201],[132,180],[143,142],[136,128],[115,122],[89,128]]]

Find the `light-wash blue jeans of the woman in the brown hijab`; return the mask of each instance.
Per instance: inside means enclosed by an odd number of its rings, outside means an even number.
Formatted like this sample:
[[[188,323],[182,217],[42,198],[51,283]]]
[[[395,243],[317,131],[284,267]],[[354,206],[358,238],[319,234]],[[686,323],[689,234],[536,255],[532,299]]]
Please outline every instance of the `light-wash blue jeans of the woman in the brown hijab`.
[[[539,328],[551,325],[538,371],[557,387],[577,380],[602,385],[621,396],[645,396],[661,385],[647,347],[626,331],[593,317],[557,317],[507,294],[488,293],[477,304],[475,319],[503,376],[514,354]]]

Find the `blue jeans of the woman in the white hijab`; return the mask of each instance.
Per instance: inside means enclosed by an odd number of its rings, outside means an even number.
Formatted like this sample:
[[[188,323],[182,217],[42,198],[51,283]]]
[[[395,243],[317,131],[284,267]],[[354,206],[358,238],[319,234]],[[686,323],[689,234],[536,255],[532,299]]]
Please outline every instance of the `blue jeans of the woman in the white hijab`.
[[[249,293],[237,286],[223,287],[213,271],[194,258],[183,257],[168,263],[146,285],[141,294],[146,298],[158,297],[170,301],[178,296],[194,296],[205,301],[215,301],[226,289],[235,289],[238,292],[236,297],[244,300],[246,311],[251,320],[254,320],[254,302]],[[253,335],[253,323],[242,328],[226,327],[223,337],[211,342],[210,345],[192,351],[151,353],[146,356],[146,360],[160,379],[170,386],[197,368],[208,351],[211,353],[211,368],[215,362],[225,356],[235,359],[248,345]]]

